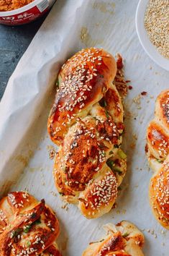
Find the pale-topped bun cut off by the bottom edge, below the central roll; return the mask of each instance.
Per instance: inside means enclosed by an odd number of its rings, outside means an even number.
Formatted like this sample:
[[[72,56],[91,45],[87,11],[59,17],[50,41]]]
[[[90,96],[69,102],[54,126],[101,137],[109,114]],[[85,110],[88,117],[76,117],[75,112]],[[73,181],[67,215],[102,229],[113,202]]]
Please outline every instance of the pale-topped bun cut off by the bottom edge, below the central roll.
[[[91,242],[83,256],[143,256],[144,236],[128,221],[106,224],[107,234],[99,242]]]

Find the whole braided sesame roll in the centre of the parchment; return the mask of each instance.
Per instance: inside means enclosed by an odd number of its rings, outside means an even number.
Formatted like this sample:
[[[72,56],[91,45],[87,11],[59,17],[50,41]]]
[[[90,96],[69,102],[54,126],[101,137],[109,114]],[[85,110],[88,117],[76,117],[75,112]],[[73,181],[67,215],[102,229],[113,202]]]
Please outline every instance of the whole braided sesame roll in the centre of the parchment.
[[[50,138],[60,146],[53,171],[56,187],[86,218],[111,210],[126,173],[116,73],[114,57],[103,49],[79,51],[60,69],[48,119]]]

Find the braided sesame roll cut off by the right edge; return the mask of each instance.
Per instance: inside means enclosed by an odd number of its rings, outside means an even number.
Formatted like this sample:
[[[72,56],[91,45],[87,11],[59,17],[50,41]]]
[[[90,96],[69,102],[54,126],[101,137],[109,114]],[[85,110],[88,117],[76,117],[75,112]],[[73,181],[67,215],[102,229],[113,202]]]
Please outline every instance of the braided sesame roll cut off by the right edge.
[[[158,95],[155,119],[147,128],[146,152],[152,170],[150,205],[157,221],[169,229],[169,90]]]

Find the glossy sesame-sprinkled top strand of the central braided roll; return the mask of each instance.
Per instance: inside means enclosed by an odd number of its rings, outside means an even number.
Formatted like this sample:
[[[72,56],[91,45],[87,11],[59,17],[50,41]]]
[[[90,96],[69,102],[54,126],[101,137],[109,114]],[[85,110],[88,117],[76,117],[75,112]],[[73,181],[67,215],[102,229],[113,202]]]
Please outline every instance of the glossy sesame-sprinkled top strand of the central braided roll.
[[[60,145],[79,111],[103,97],[116,72],[114,58],[99,48],[83,49],[66,61],[58,74],[58,93],[48,119],[53,142]]]

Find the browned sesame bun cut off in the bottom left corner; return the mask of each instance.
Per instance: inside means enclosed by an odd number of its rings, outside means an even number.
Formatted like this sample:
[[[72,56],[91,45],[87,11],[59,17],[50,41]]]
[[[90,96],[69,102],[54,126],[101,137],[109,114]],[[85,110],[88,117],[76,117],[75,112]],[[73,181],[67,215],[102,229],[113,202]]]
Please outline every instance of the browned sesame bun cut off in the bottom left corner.
[[[55,243],[58,219],[27,192],[11,192],[0,201],[0,255],[61,256]]]

